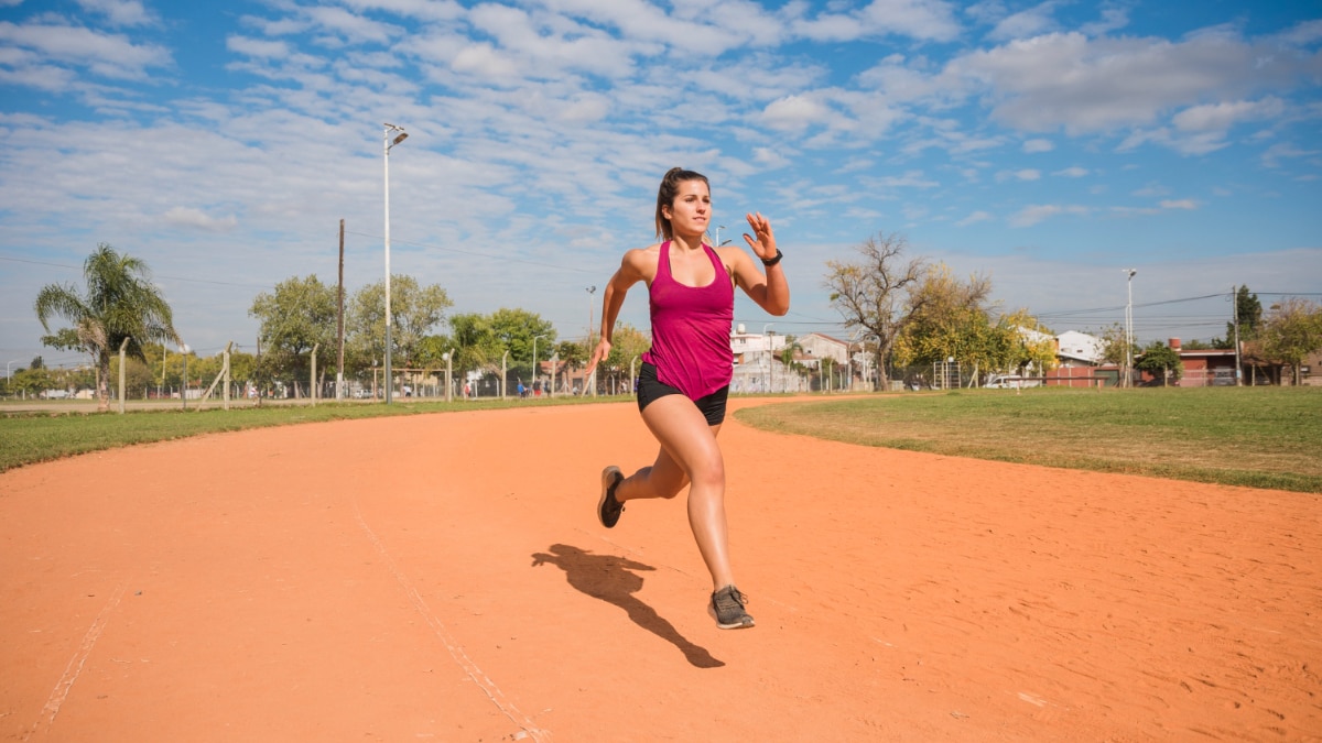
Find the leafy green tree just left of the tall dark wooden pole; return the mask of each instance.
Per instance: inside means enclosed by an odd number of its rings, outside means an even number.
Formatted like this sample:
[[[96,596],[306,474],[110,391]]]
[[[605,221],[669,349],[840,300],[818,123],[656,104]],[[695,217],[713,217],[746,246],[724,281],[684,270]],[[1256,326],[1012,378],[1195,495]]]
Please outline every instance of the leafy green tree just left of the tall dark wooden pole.
[[[337,344],[336,290],[323,284],[316,274],[305,279],[291,276],[262,292],[253,301],[249,315],[260,323],[262,353],[267,362],[296,379],[307,379],[317,349],[317,366],[327,369],[334,360]]]

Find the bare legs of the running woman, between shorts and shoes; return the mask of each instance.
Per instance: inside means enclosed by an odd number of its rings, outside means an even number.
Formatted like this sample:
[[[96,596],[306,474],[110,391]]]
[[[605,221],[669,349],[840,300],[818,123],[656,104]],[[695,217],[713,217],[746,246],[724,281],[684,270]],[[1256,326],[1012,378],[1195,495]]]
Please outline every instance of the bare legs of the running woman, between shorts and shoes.
[[[689,526],[713,590],[734,584],[726,526],[726,467],[717,444],[720,426],[709,426],[693,401],[666,395],[642,410],[642,422],[661,443],[652,467],[644,467],[615,488],[619,501],[673,498],[689,485]]]

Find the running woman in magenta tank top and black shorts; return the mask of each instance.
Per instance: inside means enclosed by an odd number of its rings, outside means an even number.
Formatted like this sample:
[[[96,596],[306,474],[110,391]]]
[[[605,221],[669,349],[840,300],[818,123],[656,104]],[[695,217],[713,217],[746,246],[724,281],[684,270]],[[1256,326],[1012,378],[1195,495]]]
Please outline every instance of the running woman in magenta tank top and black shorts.
[[[789,311],[789,284],[771,222],[747,214],[752,250],[713,247],[703,238],[711,225],[711,188],[693,171],[672,168],[657,190],[656,229],[664,242],[629,250],[602,297],[602,340],[586,374],[611,353],[615,320],[624,295],[648,286],[652,349],[642,354],[637,381],[642,422],[661,444],[656,460],[625,477],[619,467],[602,471],[596,516],[615,528],[624,504],[635,498],[673,498],[689,485],[689,525],[711,572],[707,611],[722,629],[752,627],[747,599],[735,587],[726,528],[726,471],[717,434],[726,418],[734,377],[730,327],[739,287],[772,315]],[[761,267],[754,260],[761,262]],[[765,272],[764,272],[765,271]]]

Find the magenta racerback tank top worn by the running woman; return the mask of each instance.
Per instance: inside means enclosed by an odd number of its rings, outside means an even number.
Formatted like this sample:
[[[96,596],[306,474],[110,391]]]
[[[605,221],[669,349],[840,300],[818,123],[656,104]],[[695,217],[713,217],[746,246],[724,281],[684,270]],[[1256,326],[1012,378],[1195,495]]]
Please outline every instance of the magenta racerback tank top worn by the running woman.
[[[642,361],[657,368],[661,383],[697,401],[734,378],[730,325],[735,317],[735,288],[720,256],[703,245],[717,276],[705,287],[687,287],[670,274],[670,241],[661,243],[652,279],[652,349]]]

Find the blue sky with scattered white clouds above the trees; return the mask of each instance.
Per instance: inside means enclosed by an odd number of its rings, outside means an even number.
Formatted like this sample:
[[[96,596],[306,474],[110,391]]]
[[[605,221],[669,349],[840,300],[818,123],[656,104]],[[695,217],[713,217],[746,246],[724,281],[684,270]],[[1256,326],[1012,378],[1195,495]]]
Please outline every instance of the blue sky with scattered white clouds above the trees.
[[[144,259],[200,353],[290,276],[391,268],[582,338],[672,165],[722,241],[767,214],[791,313],[898,233],[1056,332],[1224,333],[1232,284],[1322,292],[1322,4],[0,0],[0,361],[48,283]],[[1195,300],[1195,297],[1204,297]],[[623,321],[646,327],[641,287]],[[444,328],[442,328],[444,331]]]

